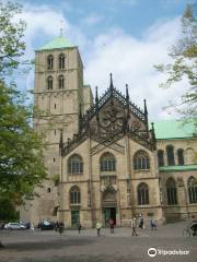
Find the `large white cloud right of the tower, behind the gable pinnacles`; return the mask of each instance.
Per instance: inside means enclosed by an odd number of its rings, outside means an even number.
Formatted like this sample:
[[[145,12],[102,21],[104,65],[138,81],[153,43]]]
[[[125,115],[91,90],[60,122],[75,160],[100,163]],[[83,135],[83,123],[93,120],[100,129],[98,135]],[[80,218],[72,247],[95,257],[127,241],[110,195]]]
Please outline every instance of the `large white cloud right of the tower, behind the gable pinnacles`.
[[[165,75],[158,73],[153,66],[170,61],[167,49],[177,39],[178,28],[179,19],[174,19],[154,24],[142,39],[120,29],[97,36],[86,61],[86,82],[93,87],[99,85],[102,94],[108,87],[112,72],[118,90],[125,93],[125,84],[129,84],[130,98],[137,105],[142,106],[142,99],[147,98],[150,118],[170,117],[162,107],[170,99],[177,102],[187,84],[182,82],[167,90],[159,87]]]

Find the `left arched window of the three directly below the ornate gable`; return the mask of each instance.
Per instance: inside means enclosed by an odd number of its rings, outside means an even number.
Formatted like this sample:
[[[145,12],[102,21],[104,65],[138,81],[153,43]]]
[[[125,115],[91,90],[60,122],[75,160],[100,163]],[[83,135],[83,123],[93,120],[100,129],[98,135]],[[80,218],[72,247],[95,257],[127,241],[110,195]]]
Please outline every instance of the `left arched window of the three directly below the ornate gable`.
[[[72,155],[68,159],[68,172],[70,175],[78,175],[83,172],[83,160],[80,155]]]

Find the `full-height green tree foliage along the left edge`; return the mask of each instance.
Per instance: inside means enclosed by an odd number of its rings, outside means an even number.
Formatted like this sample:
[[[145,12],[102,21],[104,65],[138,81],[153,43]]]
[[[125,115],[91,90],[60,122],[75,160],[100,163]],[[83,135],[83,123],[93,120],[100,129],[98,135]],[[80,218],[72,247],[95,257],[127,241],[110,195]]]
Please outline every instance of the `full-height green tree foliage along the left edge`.
[[[25,23],[14,22],[16,3],[0,3],[0,198],[20,205],[46,178],[43,138],[33,127],[33,107],[8,84],[22,62]]]

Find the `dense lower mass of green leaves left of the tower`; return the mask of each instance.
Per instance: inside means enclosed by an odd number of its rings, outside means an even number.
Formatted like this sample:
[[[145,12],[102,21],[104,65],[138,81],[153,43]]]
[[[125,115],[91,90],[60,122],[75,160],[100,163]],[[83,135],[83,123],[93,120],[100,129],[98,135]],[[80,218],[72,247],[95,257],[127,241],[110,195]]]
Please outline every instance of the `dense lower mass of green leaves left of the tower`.
[[[43,138],[20,92],[0,84],[0,196],[21,204],[45,178]]]

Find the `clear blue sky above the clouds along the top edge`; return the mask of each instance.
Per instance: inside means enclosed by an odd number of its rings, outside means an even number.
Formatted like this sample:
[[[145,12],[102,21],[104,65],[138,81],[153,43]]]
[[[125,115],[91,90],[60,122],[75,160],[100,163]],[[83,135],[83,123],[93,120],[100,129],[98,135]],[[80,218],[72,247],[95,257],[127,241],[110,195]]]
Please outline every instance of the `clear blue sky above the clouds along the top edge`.
[[[83,26],[89,37],[109,27],[119,27],[136,37],[154,24],[182,15],[189,0],[21,0],[25,4],[46,5],[62,12],[67,20]],[[85,22],[86,21],[86,25]],[[89,23],[89,24],[88,24]],[[91,25],[91,29],[90,29]]]

